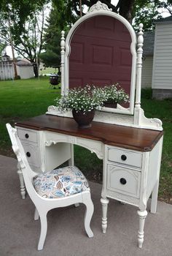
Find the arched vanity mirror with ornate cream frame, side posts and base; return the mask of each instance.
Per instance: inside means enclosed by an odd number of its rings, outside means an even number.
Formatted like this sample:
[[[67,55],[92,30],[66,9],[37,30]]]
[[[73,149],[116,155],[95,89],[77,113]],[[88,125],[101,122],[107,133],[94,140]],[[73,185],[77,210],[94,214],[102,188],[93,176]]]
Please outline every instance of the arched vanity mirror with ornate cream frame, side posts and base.
[[[94,121],[162,129],[160,120],[145,118],[141,109],[143,42],[142,24],[137,39],[128,20],[98,1],[74,23],[66,39],[62,31],[61,94],[87,84],[103,87],[119,83],[130,102],[120,102],[117,108],[103,107],[96,111]],[[71,117],[70,112],[59,113],[55,106],[47,113]]]

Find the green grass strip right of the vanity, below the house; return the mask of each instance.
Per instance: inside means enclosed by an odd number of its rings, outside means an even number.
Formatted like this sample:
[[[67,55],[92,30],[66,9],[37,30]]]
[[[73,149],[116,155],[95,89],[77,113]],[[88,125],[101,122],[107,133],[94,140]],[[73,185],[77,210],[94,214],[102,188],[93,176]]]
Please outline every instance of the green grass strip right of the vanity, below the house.
[[[147,118],[163,121],[164,140],[160,172],[159,198],[172,203],[172,99],[142,99],[142,108]]]

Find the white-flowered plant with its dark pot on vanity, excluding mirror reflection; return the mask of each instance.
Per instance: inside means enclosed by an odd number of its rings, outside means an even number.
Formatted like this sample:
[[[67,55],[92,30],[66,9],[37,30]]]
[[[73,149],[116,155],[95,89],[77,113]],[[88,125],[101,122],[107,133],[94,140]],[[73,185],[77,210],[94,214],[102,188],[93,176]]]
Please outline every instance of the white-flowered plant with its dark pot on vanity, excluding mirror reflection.
[[[103,88],[89,85],[69,89],[60,99],[55,99],[58,110],[72,110],[74,120],[82,128],[91,126],[95,110],[100,110],[105,100]]]

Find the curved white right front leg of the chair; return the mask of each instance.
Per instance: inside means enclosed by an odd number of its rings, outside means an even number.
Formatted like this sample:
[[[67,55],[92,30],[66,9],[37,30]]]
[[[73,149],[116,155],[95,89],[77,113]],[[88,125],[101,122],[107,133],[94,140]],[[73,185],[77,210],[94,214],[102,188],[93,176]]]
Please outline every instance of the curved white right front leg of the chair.
[[[89,195],[89,198],[87,198],[87,200],[85,200],[85,202],[83,202],[86,206],[86,209],[85,209],[85,231],[87,233],[87,236],[89,238],[93,237],[93,232],[90,228],[90,221],[91,221],[91,218],[93,216],[93,211],[94,211],[94,206],[93,206],[93,202],[91,200],[91,197]]]

